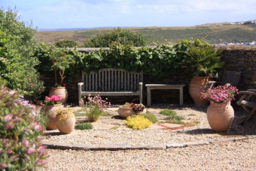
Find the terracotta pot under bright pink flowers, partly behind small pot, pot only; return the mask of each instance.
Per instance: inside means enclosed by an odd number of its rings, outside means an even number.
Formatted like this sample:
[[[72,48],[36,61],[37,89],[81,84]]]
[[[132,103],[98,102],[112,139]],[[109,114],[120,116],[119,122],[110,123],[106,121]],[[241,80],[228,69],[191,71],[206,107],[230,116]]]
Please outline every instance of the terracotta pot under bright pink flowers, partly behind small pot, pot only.
[[[45,113],[48,114],[49,122],[48,125],[46,126],[47,130],[55,130],[57,129],[57,125],[55,122],[55,117],[57,115],[56,110],[59,108],[62,108],[61,104],[58,105],[44,105],[42,106],[41,110]]]

